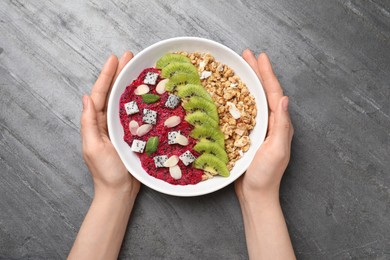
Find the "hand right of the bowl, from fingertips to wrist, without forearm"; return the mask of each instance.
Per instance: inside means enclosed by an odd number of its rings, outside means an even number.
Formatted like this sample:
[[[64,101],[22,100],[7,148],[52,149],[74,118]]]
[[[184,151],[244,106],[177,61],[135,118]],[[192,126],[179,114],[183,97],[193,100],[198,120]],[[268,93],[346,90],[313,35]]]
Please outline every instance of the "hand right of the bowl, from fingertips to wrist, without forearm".
[[[290,159],[293,126],[288,113],[288,97],[283,96],[271,63],[265,53],[256,57],[249,50],[243,58],[259,77],[269,105],[268,133],[246,173],[236,181],[240,200],[279,199],[279,186]]]

